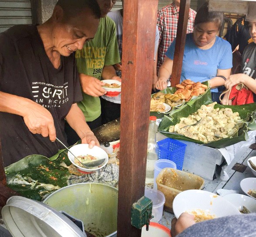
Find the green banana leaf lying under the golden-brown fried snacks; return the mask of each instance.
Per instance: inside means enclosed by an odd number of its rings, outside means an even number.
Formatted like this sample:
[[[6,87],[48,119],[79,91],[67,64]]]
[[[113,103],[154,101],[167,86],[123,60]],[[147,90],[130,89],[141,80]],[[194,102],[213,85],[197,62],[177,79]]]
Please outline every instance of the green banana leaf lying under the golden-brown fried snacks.
[[[208,81],[205,81],[202,84],[205,84],[205,85],[208,86]],[[175,91],[176,91],[175,87],[169,87],[169,88],[166,88],[166,89],[162,90],[161,92],[163,92],[165,94],[168,94],[168,93],[174,94]],[[151,95],[151,97],[153,95]],[[172,117],[173,114],[176,114],[176,113],[179,114],[179,111],[181,111],[183,109],[193,110],[194,108],[197,108],[199,105],[200,106],[198,108],[200,108],[201,105],[207,105],[207,104],[210,104],[210,103],[212,103],[212,95],[211,95],[211,90],[208,87],[208,89],[205,91],[204,94],[191,98],[191,100],[189,102],[185,102],[180,107],[172,108],[171,111],[169,111],[167,113],[150,112],[150,116],[156,116],[157,119],[163,118],[165,115],[169,115],[169,116]],[[195,104],[195,106],[193,106],[194,104]],[[195,112],[195,111],[193,111],[193,112]],[[193,112],[191,112],[191,113],[193,113]]]

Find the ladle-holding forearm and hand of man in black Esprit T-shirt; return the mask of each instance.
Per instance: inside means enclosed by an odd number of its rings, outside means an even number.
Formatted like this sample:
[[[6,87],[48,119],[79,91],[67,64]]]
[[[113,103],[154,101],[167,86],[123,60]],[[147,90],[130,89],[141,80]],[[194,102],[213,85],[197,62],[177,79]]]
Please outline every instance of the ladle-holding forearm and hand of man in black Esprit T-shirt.
[[[0,111],[22,116],[30,132],[49,136],[52,142],[55,141],[56,130],[52,115],[36,102],[0,91]]]

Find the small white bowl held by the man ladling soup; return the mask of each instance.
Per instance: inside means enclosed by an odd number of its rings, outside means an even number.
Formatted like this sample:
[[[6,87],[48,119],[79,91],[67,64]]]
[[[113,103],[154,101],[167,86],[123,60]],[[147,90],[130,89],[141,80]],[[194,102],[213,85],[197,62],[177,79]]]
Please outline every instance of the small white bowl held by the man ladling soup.
[[[88,144],[78,144],[78,145],[72,146],[70,148],[70,150],[75,156],[91,155],[91,156],[96,157],[97,159],[105,158],[105,161],[102,163],[102,165],[95,167],[93,169],[85,169],[85,167],[81,167],[81,166],[77,165],[74,162],[74,159],[75,159],[74,156],[70,152],[68,152],[68,159],[71,161],[71,163],[74,166],[78,167],[79,170],[84,171],[84,172],[94,172],[98,169],[102,169],[104,166],[106,166],[106,164],[108,163],[108,160],[109,160],[108,154],[98,146],[94,146],[92,149],[90,149]]]

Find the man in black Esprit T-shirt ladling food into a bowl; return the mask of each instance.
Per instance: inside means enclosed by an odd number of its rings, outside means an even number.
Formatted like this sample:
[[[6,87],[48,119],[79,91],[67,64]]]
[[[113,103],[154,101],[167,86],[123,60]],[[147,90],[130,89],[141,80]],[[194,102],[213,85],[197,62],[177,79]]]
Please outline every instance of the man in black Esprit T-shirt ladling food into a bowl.
[[[0,138],[4,165],[25,156],[55,155],[67,144],[65,119],[89,146],[99,142],[85,122],[74,52],[96,34],[96,0],[58,0],[39,26],[0,34]],[[49,136],[49,137],[48,137]]]

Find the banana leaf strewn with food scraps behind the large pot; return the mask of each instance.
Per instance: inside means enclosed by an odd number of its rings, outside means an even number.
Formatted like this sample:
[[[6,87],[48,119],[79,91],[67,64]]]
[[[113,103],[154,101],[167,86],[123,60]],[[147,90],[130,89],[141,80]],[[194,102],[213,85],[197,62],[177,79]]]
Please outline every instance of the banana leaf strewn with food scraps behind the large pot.
[[[49,159],[41,155],[26,156],[5,168],[7,186],[20,195],[41,201],[55,190],[67,186],[70,166],[67,150],[60,150]]]

